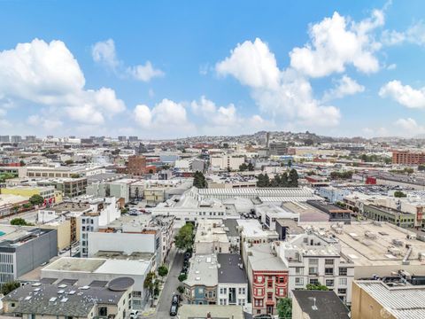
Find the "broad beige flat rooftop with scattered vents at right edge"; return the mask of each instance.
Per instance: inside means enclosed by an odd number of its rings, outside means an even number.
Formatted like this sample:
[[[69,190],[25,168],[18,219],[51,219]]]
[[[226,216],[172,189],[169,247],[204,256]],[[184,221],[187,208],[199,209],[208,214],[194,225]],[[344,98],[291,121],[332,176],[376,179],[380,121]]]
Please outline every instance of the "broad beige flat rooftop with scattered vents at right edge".
[[[311,223],[300,223],[305,230]],[[416,234],[387,222],[318,222],[313,224],[321,236],[335,237],[341,244],[342,253],[355,266],[395,266],[403,268],[403,258],[412,247],[408,261],[411,265],[425,265],[418,256],[425,256],[425,242],[415,239]],[[409,237],[411,238],[409,238]]]

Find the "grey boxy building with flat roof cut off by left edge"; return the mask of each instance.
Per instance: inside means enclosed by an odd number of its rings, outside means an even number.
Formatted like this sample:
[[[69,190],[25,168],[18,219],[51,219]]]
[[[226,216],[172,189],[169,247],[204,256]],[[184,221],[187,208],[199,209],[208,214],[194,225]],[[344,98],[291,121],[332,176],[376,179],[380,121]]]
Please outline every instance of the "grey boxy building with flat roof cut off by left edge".
[[[58,255],[56,230],[0,226],[0,284],[12,282]]]

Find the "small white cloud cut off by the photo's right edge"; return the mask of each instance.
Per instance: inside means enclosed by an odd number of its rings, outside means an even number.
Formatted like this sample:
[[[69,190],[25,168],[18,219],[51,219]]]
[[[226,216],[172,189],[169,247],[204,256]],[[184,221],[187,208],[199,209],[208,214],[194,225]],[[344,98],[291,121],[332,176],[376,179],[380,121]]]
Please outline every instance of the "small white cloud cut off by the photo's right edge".
[[[390,97],[400,105],[409,108],[425,107],[425,87],[413,89],[410,85],[403,85],[397,80],[390,81],[383,85],[379,90],[379,96]]]

